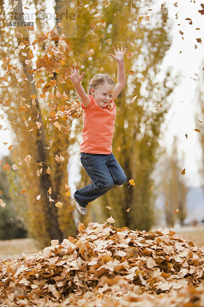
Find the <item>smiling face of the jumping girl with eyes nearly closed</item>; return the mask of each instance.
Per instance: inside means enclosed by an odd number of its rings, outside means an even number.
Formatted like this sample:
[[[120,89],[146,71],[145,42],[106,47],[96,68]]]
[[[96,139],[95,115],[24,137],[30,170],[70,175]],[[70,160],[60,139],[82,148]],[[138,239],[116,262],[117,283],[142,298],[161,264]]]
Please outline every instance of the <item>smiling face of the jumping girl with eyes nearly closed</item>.
[[[105,108],[113,97],[114,87],[109,83],[98,85],[96,89],[91,89],[91,95],[94,97],[95,102],[101,108]]]

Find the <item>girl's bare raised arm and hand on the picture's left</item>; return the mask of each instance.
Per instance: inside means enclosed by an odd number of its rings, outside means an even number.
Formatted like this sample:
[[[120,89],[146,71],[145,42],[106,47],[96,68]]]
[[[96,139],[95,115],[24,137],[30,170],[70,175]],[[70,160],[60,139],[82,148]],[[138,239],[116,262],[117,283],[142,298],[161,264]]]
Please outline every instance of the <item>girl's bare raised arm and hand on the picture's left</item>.
[[[80,96],[82,100],[83,106],[86,108],[90,104],[90,98],[84,91],[84,87],[81,84],[82,78],[84,77],[85,72],[83,72],[80,76],[78,65],[76,66],[76,69],[74,68],[74,65],[72,64],[72,70],[69,67],[70,75],[66,74],[67,77],[69,77],[74,85],[75,90],[77,91],[78,95]]]

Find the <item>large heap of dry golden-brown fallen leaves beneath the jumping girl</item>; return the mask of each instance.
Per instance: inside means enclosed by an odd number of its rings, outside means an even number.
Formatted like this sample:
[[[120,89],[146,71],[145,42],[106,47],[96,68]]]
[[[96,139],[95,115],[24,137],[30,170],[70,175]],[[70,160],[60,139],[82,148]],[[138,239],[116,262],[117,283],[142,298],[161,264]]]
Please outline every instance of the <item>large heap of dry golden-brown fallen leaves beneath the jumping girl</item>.
[[[204,249],[168,229],[133,231],[110,223],[112,217],[86,229],[79,223],[76,238],[52,240],[42,252],[1,261],[0,305],[122,307],[146,300],[162,306],[164,294],[172,302],[180,298],[181,306],[184,299],[204,300]]]

